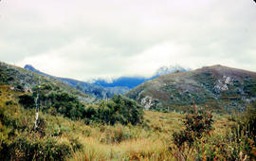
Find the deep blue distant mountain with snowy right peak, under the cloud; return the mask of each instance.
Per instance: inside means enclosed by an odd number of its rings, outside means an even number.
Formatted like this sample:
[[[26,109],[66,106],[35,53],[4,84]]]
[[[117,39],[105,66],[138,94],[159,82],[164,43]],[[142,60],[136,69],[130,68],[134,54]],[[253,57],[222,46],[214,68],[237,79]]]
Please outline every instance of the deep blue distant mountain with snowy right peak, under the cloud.
[[[150,78],[145,78],[145,77],[120,77],[118,79],[112,80],[111,82],[107,80],[95,80],[94,84],[95,85],[101,85],[103,87],[116,87],[116,86],[121,86],[121,87],[128,87],[129,89],[132,89],[136,87],[137,85],[147,81],[147,80],[153,80],[159,76],[165,75],[165,74],[170,74],[174,73],[175,71],[188,71],[190,69],[186,69],[181,67],[180,65],[170,65],[170,66],[162,66],[159,69],[156,70],[154,76]]]

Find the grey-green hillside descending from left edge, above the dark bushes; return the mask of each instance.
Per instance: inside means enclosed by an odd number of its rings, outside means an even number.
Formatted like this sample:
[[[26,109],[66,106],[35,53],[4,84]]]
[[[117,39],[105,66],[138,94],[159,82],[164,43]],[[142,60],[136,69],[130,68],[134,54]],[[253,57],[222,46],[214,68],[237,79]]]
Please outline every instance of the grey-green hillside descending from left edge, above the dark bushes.
[[[10,85],[15,91],[30,92],[40,84],[52,86],[52,91],[63,91],[77,96],[83,102],[92,102],[96,98],[76,90],[60,80],[40,76],[27,69],[0,62],[0,84]]]

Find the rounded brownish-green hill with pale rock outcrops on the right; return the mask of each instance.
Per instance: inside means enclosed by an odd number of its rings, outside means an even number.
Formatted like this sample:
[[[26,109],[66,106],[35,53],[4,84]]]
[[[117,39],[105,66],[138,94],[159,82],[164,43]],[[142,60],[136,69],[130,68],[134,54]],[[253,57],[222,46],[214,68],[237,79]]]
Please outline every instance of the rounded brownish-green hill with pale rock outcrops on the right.
[[[213,65],[160,76],[126,96],[146,109],[187,111],[195,103],[218,112],[244,111],[256,100],[256,73]]]

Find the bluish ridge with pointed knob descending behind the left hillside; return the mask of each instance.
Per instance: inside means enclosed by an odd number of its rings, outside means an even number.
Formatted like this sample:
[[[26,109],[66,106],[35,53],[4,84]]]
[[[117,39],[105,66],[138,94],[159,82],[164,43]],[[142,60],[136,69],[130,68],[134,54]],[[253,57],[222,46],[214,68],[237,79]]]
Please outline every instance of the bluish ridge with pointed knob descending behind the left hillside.
[[[51,76],[51,75],[48,75],[46,73],[43,73],[43,72],[35,69],[32,65],[28,65],[28,64],[25,65],[24,68],[26,68],[27,70],[30,70],[32,72],[35,72],[39,75],[46,76],[48,78],[61,80],[65,84],[67,84],[71,87],[74,87],[74,88],[82,91],[85,94],[92,95],[96,98],[112,98],[114,96],[114,94],[122,95],[122,94],[128,92],[128,90],[129,90],[127,87],[119,87],[119,86],[102,87],[101,85],[95,85],[95,84],[80,81],[80,80],[73,80],[73,79],[66,79],[66,78]]]

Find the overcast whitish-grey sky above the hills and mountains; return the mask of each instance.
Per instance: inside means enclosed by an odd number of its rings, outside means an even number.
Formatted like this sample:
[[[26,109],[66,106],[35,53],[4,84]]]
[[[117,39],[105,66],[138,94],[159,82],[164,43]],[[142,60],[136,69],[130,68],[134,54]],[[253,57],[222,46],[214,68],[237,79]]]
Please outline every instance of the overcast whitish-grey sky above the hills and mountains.
[[[256,71],[253,0],[1,0],[0,61],[91,80],[163,65]]]

